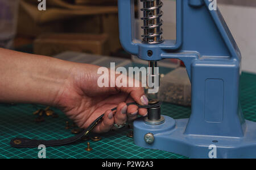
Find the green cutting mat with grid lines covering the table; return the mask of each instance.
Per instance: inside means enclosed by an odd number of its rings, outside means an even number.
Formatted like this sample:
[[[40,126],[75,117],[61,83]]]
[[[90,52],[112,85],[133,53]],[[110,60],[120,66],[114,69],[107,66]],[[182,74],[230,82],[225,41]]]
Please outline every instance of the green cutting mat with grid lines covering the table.
[[[245,118],[256,121],[256,75],[243,73],[241,77],[241,104]],[[40,106],[39,106],[40,107]],[[44,108],[44,106],[42,106]],[[188,118],[189,107],[164,103],[162,111],[172,118]],[[57,109],[59,118],[47,117],[45,122],[35,123],[35,107],[28,104],[0,105],[0,158],[37,158],[38,148],[12,148],[9,142],[14,137],[34,139],[61,139],[72,136],[65,129],[67,117]],[[71,123],[71,121],[69,121]],[[91,152],[85,151],[87,142],[68,146],[47,147],[47,158],[186,158],[166,151],[148,150],[135,146],[126,135],[130,130],[122,128],[101,135],[102,140],[90,144]]]

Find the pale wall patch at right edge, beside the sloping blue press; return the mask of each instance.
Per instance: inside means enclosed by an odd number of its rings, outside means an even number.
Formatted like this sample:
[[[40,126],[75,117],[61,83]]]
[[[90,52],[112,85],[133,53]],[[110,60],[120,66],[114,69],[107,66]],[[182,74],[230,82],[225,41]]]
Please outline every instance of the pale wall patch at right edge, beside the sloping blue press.
[[[218,5],[242,53],[242,71],[256,73],[256,8]]]

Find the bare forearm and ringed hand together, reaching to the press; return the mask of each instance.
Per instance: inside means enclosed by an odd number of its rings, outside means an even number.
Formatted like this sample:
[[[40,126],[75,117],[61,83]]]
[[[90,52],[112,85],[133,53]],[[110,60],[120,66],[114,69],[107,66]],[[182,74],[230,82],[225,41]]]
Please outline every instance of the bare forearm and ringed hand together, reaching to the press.
[[[96,65],[1,48],[0,53],[0,102],[57,106],[81,128],[105,113],[95,132],[109,131],[113,123],[123,125],[138,114],[147,114],[146,109],[126,105],[134,101],[147,105],[143,88],[100,88]],[[114,107],[117,110],[112,112]]]

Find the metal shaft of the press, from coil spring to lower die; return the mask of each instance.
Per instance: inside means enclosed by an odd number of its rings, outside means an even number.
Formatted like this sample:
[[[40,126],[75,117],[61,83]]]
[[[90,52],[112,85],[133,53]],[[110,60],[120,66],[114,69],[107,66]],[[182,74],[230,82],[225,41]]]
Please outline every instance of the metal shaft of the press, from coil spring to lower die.
[[[160,0],[141,0],[143,2],[143,32],[142,35],[142,43],[144,44],[159,44],[163,42],[162,34],[162,24],[163,20],[161,16],[163,12],[161,11],[161,7],[163,3]],[[148,51],[148,56],[152,55],[152,51]],[[156,61],[149,61],[148,67],[150,68],[147,77],[148,89],[150,88],[159,88],[159,72],[156,72],[156,68],[158,67]],[[156,87],[156,85],[158,87]],[[148,93],[148,97],[153,99],[150,102],[159,102],[157,99],[158,90],[155,93]],[[159,125],[164,122],[164,119],[161,117],[161,110],[159,107],[154,107],[148,109],[148,116],[145,119],[145,122],[150,125]]]

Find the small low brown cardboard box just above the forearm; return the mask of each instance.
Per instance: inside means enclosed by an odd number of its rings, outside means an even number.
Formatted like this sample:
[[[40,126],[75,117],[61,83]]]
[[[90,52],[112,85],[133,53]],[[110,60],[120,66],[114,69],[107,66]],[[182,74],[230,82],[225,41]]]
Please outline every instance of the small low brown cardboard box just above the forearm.
[[[53,56],[64,51],[109,55],[107,35],[42,34],[34,42],[34,53]]]

